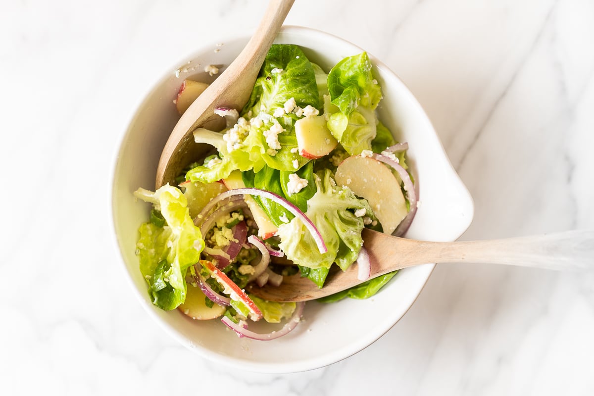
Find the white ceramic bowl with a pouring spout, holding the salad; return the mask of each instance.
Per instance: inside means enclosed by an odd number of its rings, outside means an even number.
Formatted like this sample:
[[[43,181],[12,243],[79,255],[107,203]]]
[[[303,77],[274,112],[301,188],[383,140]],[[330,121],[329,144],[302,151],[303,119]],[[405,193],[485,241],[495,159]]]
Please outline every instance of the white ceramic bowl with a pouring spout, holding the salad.
[[[233,368],[257,372],[298,372],[338,362],[364,349],[399,321],[415,302],[434,264],[400,271],[380,293],[368,300],[346,299],[333,304],[310,302],[302,322],[293,332],[272,341],[238,338],[218,320],[192,321],[175,310],[153,306],[147,284],[138,269],[135,243],[138,226],[147,221],[149,206],[135,202],[138,187],[154,189],[157,161],[178,114],[173,106],[184,78],[211,77],[206,65],[223,71],[248,41],[248,37],[204,46],[178,72],[169,71],[146,97],[122,137],[113,170],[113,226],[125,272],[147,312],[172,337],[207,359]],[[303,27],[285,27],[276,43],[302,47],[308,58],[329,71],[345,56],[362,49],[327,33]],[[215,52],[214,49],[219,49]],[[423,109],[386,65],[373,58],[374,75],[384,99],[378,109],[381,121],[397,140],[409,142],[409,158],[419,190],[419,207],[408,237],[456,240],[472,221],[469,192],[445,156],[443,147]]]

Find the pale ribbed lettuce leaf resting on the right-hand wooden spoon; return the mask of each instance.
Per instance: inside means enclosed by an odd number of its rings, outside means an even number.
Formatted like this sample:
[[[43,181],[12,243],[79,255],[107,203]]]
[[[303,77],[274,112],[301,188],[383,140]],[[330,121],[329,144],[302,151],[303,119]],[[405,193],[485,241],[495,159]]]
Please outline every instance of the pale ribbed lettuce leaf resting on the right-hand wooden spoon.
[[[328,251],[321,254],[303,222],[295,217],[280,224],[279,247],[295,264],[309,268],[330,268],[333,262],[346,270],[363,245],[363,218],[353,211],[365,208],[372,213],[365,199],[357,198],[347,187],[338,187],[330,170],[314,176],[317,191],[308,202],[306,216],[315,224]]]

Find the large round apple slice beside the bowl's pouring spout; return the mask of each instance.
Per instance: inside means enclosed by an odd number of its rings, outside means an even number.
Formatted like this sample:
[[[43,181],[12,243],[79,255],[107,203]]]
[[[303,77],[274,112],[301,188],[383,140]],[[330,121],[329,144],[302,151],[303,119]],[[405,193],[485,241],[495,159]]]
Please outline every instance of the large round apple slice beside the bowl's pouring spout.
[[[399,180],[378,160],[352,156],[336,169],[336,183],[367,199],[384,233],[391,234],[406,217],[406,201]]]

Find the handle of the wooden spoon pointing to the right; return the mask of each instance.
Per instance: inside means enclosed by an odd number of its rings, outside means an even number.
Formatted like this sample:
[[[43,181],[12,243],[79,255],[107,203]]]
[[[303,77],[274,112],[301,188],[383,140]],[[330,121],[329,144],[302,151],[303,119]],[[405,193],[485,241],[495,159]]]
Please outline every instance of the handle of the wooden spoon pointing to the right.
[[[380,235],[374,235],[377,241]],[[388,242],[386,239],[384,243]],[[475,262],[519,265],[521,267],[548,268],[551,270],[594,269],[594,230],[576,230],[546,235],[517,237],[470,242],[422,242],[399,239],[396,252],[381,252],[368,246],[376,254],[377,268],[381,273],[394,267],[405,268],[423,262]],[[384,250],[385,251],[385,250]],[[389,261],[389,262],[387,262]],[[383,264],[386,262],[386,264]]]

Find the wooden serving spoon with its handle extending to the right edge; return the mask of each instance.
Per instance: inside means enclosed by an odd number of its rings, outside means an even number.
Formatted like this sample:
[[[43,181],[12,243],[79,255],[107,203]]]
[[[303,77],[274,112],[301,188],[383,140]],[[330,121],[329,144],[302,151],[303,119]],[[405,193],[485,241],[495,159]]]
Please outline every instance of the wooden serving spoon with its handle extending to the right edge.
[[[551,270],[593,270],[594,230],[471,242],[424,242],[364,229],[363,240],[371,261],[371,276],[429,262],[508,264]],[[336,267],[334,265],[333,267]],[[331,271],[322,289],[299,274],[285,277],[280,286],[249,286],[249,293],[270,301],[307,301],[361,284],[358,267]]]

